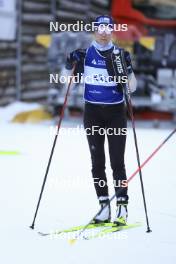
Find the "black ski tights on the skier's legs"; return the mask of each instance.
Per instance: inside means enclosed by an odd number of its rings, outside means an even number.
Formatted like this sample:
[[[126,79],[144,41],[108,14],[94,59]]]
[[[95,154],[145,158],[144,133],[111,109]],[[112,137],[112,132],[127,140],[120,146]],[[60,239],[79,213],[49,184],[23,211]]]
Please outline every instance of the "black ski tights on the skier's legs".
[[[84,128],[92,160],[92,176],[97,196],[108,196],[105,173],[104,142],[107,135],[113,182],[118,197],[127,196],[124,164],[127,119],[124,103],[115,105],[85,104]],[[106,133],[104,133],[106,131]],[[118,195],[119,188],[121,192]]]

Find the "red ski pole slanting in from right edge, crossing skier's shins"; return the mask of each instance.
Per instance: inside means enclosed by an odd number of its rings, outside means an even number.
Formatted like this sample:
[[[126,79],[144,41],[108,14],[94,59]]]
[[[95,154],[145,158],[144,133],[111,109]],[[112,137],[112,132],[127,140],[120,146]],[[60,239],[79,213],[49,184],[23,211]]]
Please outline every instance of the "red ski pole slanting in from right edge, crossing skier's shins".
[[[147,159],[141,164],[140,167],[138,167],[132,174],[131,176],[128,178],[127,183],[129,183],[135,176],[136,174],[142,170],[142,168],[156,155],[156,153],[165,145],[165,143],[175,134],[176,132],[176,128],[163,140],[163,142],[147,157]],[[117,191],[117,194],[120,194],[123,190],[123,187],[119,188],[119,190]],[[110,198],[110,202],[112,202],[112,200],[116,197],[116,194],[114,194],[111,198]],[[99,215],[108,205],[106,204],[105,206],[103,206],[98,213],[96,213],[96,215],[94,217],[92,217],[92,219],[88,222],[88,224],[85,225],[85,227],[78,233],[78,235],[76,236],[75,239],[73,239],[71,242],[74,243],[81,234],[84,233],[84,231],[87,229],[87,227],[91,224],[91,222],[93,221],[93,219]]]

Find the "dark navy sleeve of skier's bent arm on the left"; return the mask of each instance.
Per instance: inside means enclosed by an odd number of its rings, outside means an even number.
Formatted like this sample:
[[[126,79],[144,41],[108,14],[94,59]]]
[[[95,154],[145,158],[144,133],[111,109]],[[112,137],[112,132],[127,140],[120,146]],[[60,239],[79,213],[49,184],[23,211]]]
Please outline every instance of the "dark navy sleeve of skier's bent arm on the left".
[[[86,50],[84,49],[77,49],[72,51],[67,57],[66,69],[71,70],[75,63],[78,64],[80,62],[83,62],[85,55],[86,55]]]

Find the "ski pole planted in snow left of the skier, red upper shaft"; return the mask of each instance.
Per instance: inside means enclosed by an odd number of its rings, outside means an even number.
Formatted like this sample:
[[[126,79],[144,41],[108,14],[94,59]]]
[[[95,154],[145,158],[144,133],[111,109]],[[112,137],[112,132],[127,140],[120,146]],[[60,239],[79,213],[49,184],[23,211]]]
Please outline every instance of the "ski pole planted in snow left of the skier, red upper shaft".
[[[49,172],[49,169],[50,169],[51,160],[52,160],[52,157],[53,157],[53,153],[54,153],[54,149],[55,149],[55,146],[56,146],[59,130],[60,130],[60,127],[61,127],[61,122],[62,122],[62,119],[64,117],[64,112],[65,112],[65,108],[66,108],[66,105],[67,105],[68,95],[69,95],[69,92],[70,92],[72,79],[74,77],[74,70],[75,70],[75,65],[73,67],[71,78],[69,80],[68,88],[67,88],[67,91],[66,91],[64,103],[63,103],[63,106],[62,106],[62,110],[61,110],[61,114],[60,114],[60,118],[59,118],[59,122],[58,122],[58,126],[57,126],[57,133],[55,135],[54,142],[53,142],[53,145],[52,145],[52,149],[51,149],[51,152],[50,152],[50,156],[49,156],[49,160],[48,160],[45,176],[44,176],[44,179],[43,179],[43,183],[42,183],[39,199],[38,199],[38,202],[37,202],[37,207],[36,207],[36,210],[35,210],[33,222],[32,222],[32,225],[30,226],[31,229],[34,229],[34,226],[35,226],[35,220],[36,220],[36,217],[37,217],[37,213],[38,213],[38,210],[39,210],[40,202],[41,202],[41,199],[42,199],[42,194],[43,194],[43,191],[44,191],[44,187],[45,187],[45,184],[46,184],[48,172]]]

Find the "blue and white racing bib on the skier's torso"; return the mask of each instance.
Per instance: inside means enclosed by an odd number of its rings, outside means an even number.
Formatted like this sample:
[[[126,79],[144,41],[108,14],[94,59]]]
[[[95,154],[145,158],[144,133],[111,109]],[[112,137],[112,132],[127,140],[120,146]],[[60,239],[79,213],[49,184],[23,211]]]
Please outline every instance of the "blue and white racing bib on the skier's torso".
[[[94,104],[118,104],[124,101],[122,91],[108,74],[105,57],[91,46],[84,65],[84,100]]]

